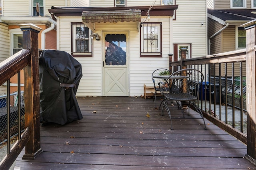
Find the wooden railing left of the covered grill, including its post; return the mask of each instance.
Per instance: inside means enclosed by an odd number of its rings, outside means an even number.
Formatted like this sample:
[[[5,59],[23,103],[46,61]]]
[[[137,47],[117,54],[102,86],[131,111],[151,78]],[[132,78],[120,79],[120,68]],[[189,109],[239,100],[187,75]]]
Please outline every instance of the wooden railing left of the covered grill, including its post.
[[[24,159],[34,159],[42,152],[38,60],[38,33],[41,28],[30,24],[21,25],[20,28],[23,31],[23,49],[0,63],[0,85],[10,82],[12,76],[24,69],[25,131],[12,148],[9,147],[10,137],[8,137],[8,150],[0,163],[0,169],[9,169],[25,146]],[[7,95],[10,96],[10,92]]]

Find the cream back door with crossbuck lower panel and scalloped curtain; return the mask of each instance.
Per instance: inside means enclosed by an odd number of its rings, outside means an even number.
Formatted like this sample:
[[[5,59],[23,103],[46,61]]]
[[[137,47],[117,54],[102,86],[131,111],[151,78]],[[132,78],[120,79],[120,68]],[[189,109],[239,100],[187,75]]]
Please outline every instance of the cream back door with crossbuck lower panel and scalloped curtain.
[[[104,32],[103,36],[103,96],[129,96],[128,32]]]

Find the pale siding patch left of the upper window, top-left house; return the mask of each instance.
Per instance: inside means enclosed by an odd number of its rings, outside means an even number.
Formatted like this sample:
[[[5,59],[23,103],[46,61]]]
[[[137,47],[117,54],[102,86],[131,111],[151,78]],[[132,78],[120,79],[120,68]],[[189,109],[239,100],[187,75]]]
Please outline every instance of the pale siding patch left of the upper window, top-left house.
[[[4,16],[29,16],[29,0],[3,0]]]

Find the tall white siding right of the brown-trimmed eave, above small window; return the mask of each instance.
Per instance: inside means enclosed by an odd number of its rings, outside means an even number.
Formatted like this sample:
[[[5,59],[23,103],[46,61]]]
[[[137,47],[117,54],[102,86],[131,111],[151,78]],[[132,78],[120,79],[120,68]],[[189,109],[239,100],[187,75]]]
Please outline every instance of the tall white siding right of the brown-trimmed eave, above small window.
[[[191,43],[192,58],[207,55],[207,8],[205,0],[176,0],[173,43]]]

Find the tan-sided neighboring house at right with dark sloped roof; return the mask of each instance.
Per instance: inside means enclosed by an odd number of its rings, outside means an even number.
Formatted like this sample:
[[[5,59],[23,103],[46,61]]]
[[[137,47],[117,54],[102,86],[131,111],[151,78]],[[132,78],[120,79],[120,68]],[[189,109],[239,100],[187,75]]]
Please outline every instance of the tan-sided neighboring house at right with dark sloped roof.
[[[255,19],[256,0],[208,0],[208,54],[245,48],[246,31],[241,25]],[[235,65],[239,67],[239,63]],[[216,75],[219,76],[218,66]],[[225,76],[224,64],[221,76]],[[232,64],[228,65],[228,76],[232,76]],[[240,76],[240,72],[235,72],[235,76]]]

